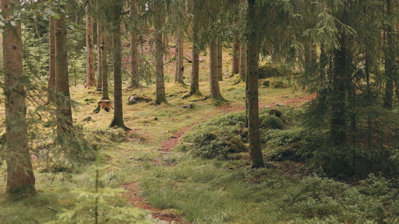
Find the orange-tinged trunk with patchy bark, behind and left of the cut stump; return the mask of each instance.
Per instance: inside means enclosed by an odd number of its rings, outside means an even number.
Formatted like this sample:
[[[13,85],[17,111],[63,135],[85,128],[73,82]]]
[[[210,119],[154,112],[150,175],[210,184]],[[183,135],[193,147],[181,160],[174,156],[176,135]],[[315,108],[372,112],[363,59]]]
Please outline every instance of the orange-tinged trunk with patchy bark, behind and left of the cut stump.
[[[94,75],[93,16],[92,0],[86,5],[86,88],[96,85]]]

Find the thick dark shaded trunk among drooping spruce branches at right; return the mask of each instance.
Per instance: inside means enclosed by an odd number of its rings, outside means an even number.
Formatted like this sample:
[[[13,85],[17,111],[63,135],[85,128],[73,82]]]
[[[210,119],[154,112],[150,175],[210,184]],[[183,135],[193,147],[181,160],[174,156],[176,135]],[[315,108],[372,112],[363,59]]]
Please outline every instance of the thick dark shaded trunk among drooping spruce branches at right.
[[[346,91],[348,82],[348,41],[346,35],[340,37],[340,49],[334,50],[334,67],[332,74],[331,104],[331,137],[332,146],[346,144]]]

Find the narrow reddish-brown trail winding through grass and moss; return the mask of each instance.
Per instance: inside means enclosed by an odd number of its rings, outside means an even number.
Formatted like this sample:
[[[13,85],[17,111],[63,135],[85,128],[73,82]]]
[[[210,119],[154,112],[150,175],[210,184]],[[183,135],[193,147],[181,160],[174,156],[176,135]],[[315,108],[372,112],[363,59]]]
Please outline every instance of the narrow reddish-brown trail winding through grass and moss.
[[[298,97],[295,99],[287,100],[286,98],[284,98],[284,96],[280,96],[280,97],[276,98],[275,100],[273,100],[272,103],[269,103],[269,104],[267,104],[265,102],[260,103],[259,108],[264,108],[266,105],[269,107],[273,107],[277,103],[285,104],[285,105],[300,106],[304,102],[308,102],[308,101],[314,99],[315,97],[316,97],[316,94],[312,94],[312,95],[306,95],[303,97]],[[281,100],[277,100],[277,99],[284,99],[285,101],[281,101]],[[231,105],[226,104],[226,105],[217,107],[216,113],[217,114],[222,114],[222,113],[227,114],[229,112],[235,112],[235,111],[241,111],[241,110],[245,110],[245,106],[242,106],[241,104],[231,104]],[[163,141],[160,144],[161,145],[161,149],[160,149],[161,155],[154,159],[153,164],[154,165],[162,164],[162,163],[159,163],[159,161],[162,159],[162,157],[164,157],[164,155],[172,153],[171,149],[173,147],[175,147],[176,145],[178,145],[179,139],[184,135],[184,133],[190,131],[191,127],[198,124],[199,122],[202,122],[203,120],[208,120],[211,115],[213,115],[213,114],[210,114],[209,116],[202,119],[201,121],[194,122],[194,123],[190,124],[189,126],[182,128],[181,130],[176,132],[169,140]],[[162,164],[161,166],[166,166],[166,165],[173,165],[173,164]],[[140,187],[138,187],[138,185],[139,185],[139,183],[137,183],[137,182],[126,183],[125,185],[123,185],[123,188],[127,192],[123,193],[122,195],[126,200],[128,200],[129,203],[134,204],[134,206],[137,208],[149,211],[150,214],[154,218],[158,218],[160,220],[164,220],[167,222],[174,222],[176,224],[188,223],[188,222],[186,222],[186,220],[184,220],[183,217],[173,214],[172,212],[170,212],[170,210],[162,210],[162,209],[154,208],[152,205],[147,203],[145,201],[145,198],[142,198],[139,196],[139,193],[141,190],[140,190]]]

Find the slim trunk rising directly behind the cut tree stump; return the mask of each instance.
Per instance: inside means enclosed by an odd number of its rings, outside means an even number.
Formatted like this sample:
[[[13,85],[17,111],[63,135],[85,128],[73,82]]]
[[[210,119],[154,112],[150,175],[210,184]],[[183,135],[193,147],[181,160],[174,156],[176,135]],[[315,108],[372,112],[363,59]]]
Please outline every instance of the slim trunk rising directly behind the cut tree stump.
[[[101,73],[102,73],[102,95],[101,100],[109,100],[108,95],[108,61],[107,61],[107,27],[101,22]]]

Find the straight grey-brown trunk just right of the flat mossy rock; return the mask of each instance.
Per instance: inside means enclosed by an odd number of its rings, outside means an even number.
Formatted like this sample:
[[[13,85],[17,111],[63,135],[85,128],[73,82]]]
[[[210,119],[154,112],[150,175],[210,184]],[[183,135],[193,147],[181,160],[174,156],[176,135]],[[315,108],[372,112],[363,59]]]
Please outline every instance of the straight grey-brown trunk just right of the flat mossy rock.
[[[160,4],[154,5],[154,53],[155,53],[155,102],[160,104],[166,102],[164,83],[164,49],[162,45],[163,7]]]

